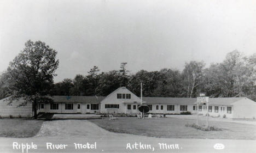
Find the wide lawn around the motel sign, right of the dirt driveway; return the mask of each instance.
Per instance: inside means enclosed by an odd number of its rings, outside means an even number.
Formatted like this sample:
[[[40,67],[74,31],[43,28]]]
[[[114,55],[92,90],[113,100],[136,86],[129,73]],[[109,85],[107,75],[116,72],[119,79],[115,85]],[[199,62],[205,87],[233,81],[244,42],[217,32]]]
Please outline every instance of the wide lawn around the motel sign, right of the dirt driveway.
[[[154,118],[137,119],[132,117],[109,120],[109,118],[90,120],[92,123],[112,132],[131,133],[161,138],[208,138],[208,139],[256,139],[256,126],[226,121],[210,121],[210,126],[222,128],[222,131],[201,131],[185,124],[196,123],[195,119]],[[206,124],[200,121],[201,125]]]

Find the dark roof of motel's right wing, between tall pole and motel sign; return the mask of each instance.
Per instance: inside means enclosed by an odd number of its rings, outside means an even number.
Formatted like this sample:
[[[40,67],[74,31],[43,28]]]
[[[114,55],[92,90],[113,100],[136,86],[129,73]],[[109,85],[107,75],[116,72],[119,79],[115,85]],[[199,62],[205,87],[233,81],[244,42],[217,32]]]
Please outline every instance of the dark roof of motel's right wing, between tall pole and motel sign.
[[[196,98],[179,98],[179,97],[142,97],[146,104],[170,104],[170,105],[193,105]]]

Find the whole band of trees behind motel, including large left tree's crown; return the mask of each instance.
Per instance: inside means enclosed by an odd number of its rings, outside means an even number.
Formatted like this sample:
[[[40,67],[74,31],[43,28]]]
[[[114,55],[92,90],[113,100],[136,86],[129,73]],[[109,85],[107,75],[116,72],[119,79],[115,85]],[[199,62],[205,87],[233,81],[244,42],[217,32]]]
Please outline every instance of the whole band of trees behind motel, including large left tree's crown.
[[[121,63],[119,70],[108,72],[94,66],[85,74],[53,83],[59,64],[56,53],[44,42],[26,42],[24,51],[0,76],[0,99],[17,93],[21,97],[40,92],[42,95],[107,96],[121,86],[140,96],[142,81],[143,96],[197,97],[206,93],[210,97],[246,96],[256,100],[256,54],[244,56],[232,51],[221,63],[206,68],[203,61],[190,61],[182,71],[164,68],[131,74],[126,69],[127,63]]]

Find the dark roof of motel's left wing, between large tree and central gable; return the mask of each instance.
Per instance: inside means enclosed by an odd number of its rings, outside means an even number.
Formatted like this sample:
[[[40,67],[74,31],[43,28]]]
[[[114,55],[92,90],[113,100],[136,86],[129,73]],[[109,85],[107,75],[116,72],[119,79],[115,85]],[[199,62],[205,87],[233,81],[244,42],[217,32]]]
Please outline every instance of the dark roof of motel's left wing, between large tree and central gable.
[[[104,96],[53,96],[54,102],[100,103]]]

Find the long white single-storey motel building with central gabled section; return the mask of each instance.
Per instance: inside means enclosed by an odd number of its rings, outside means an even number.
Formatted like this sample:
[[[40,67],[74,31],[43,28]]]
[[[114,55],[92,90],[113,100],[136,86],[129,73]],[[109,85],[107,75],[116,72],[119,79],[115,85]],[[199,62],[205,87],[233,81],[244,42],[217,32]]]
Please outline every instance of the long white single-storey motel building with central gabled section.
[[[196,98],[143,97],[152,114],[180,114],[197,112]],[[108,96],[53,96],[53,103],[39,103],[37,112],[73,114],[138,114],[141,99],[125,87],[120,87]],[[10,103],[8,97],[0,100],[1,117],[32,117],[32,104],[20,106],[22,100]],[[199,114],[207,114],[207,106],[199,105]],[[255,118],[256,102],[247,97],[210,98],[208,113],[213,117]]]

